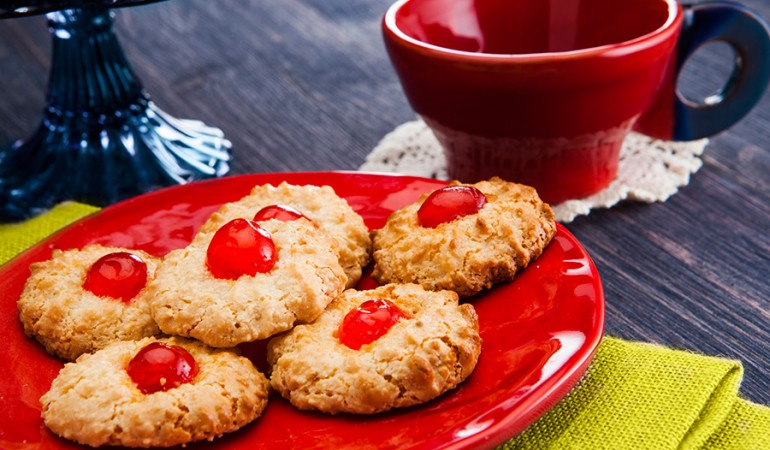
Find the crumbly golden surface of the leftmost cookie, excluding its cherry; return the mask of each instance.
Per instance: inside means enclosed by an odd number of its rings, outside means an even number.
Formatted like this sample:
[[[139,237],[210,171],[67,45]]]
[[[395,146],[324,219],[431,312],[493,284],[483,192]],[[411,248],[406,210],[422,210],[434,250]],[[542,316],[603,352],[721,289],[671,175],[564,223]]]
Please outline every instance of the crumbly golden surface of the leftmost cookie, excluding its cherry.
[[[24,332],[34,336],[49,353],[70,361],[115,340],[160,333],[150,314],[146,288],[129,303],[83,289],[91,265],[119,251],[142,259],[147,265],[148,282],[152,279],[159,259],[139,250],[101,245],[54,250],[50,260],[30,265],[31,275],[17,303]]]

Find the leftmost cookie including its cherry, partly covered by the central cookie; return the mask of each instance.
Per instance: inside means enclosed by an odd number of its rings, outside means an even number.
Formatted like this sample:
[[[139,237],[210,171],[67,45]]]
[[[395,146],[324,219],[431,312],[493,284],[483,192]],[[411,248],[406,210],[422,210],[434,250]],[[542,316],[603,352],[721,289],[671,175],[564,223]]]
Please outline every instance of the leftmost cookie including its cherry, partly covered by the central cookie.
[[[159,261],[101,245],[54,250],[50,260],[30,265],[17,302],[24,332],[70,361],[116,340],[159,334],[145,287]]]

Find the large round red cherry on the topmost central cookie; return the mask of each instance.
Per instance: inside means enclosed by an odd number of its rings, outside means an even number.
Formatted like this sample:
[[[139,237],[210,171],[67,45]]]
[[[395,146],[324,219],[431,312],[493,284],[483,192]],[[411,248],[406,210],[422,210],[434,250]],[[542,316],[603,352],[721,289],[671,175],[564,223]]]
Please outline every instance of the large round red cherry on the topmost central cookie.
[[[209,272],[228,280],[269,272],[277,259],[270,233],[247,219],[234,219],[224,224],[214,233],[206,252]]]

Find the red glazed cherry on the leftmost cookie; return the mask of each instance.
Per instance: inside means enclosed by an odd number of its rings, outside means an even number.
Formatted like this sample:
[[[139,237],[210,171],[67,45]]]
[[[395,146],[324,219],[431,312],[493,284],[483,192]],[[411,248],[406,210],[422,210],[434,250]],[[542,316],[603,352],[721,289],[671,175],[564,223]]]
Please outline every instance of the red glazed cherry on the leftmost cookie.
[[[112,297],[126,303],[147,283],[147,264],[128,252],[108,253],[88,269],[83,289],[100,297]]]

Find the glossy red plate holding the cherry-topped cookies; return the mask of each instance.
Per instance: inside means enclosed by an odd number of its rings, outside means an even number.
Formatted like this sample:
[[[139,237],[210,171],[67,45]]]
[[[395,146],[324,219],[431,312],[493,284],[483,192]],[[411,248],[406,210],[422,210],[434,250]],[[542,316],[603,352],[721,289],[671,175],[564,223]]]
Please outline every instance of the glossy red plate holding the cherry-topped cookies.
[[[89,243],[163,255],[185,246],[223,202],[257,184],[330,185],[374,229],[396,208],[445,183],[345,172],[258,174],[162,189],[110,206],[48,238],[0,268],[0,448],[78,448],[45,428],[39,398],[62,363],[24,336],[16,300],[29,264],[53,248]],[[371,280],[368,280],[371,283]],[[427,404],[373,416],[301,412],[277,395],[243,429],[187,448],[486,448],[522,431],[578,381],[602,337],[604,297],[590,257],[561,225],[543,255],[469,301],[483,347],[473,374]],[[255,361],[258,365],[262,362]]]

